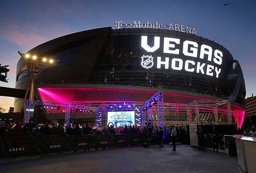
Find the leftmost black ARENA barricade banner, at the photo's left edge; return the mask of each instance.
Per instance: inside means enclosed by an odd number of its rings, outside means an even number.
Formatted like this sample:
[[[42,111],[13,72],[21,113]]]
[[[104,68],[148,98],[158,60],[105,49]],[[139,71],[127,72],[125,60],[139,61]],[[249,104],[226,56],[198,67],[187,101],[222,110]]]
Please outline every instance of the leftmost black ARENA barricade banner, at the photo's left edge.
[[[0,137],[0,156],[36,155],[39,150],[39,136]]]

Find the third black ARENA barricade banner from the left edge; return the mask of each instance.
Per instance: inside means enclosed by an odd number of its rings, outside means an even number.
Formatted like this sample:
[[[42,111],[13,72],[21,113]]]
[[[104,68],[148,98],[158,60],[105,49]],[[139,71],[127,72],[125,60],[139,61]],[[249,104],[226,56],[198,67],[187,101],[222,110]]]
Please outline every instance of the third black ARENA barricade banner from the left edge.
[[[94,135],[73,135],[72,137],[72,151],[85,150],[94,148]]]

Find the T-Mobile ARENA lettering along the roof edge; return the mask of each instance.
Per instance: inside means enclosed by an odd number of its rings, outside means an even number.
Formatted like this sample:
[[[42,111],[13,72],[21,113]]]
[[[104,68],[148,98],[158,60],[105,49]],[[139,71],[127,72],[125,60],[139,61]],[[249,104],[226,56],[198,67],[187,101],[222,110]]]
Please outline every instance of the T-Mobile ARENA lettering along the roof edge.
[[[180,24],[161,24],[158,21],[153,21],[153,22],[142,22],[142,21],[133,21],[133,23],[130,24],[125,24],[123,21],[115,21],[115,27],[117,29],[121,28],[148,28],[148,29],[168,29],[172,31],[179,31],[179,32],[186,32],[190,34],[196,35],[195,28],[191,28],[186,25],[180,25]]]

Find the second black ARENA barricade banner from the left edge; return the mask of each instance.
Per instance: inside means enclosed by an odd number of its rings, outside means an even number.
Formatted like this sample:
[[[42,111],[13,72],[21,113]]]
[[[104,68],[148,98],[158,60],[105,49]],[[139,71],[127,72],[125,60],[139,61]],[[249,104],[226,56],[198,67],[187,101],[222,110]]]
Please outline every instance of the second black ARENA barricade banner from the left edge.
[[[70,137],[59,135],[41,136],[40,152],[54,153],[69,151]]]

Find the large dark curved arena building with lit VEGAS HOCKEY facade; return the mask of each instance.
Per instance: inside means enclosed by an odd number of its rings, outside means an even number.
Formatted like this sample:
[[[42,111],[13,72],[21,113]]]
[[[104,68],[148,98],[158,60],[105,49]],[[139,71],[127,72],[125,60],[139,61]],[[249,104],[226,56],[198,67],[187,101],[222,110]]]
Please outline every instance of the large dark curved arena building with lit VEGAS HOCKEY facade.
[[[238,61],[226,48],[195,32],[152,28],[153,24],[151,28],[120,28],[118,24],[118,29],[76,32],[29,50],[31,55],[58,60],[34,82],[34,99],[128,110],[143,105],[155,91],[162,91],[165,124],[193,122],[193,112],[187,116],[187,104],[194,100],[229,99],[232,120],[242,126],[245,81]],[[21,58],[16,88],[27,89],[29,84],[29,73]],[[15,112],[23,105],[24,99],[16,98]],[[214,120],[213,109],[200,109],[201,123],[227,124],[225,109],[218,108],[218,120]],[[42,110],[48,120],[65,119],[64,109]],[[156,113],[153,108],[153,118]],[[95,113],[72,110],[71,120],[82,119],[95,121]],[[106,115],[103,119],[106,121]]]

